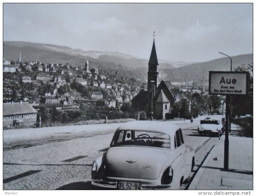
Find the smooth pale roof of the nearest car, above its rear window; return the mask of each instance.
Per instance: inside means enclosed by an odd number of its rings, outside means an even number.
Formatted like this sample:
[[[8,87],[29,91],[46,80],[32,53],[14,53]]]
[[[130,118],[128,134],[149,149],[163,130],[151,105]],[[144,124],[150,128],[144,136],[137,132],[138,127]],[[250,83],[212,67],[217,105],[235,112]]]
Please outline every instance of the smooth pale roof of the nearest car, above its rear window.
[[[121,124],[118,130],[147,130],[147,131],[157,131],[167,133],[169,135],[175,134],[179,127],[170,121],[148,121],[148,120],[138,120],[130,121]]]

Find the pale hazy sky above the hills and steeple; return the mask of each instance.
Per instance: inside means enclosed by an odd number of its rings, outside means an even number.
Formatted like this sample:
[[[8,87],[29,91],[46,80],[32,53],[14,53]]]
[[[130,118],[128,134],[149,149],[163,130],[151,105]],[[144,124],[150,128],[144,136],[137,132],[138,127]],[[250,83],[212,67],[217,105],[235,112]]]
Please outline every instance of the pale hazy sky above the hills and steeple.
[[[204,62],[253,53],[253,4],[3,4],[3,40]]]

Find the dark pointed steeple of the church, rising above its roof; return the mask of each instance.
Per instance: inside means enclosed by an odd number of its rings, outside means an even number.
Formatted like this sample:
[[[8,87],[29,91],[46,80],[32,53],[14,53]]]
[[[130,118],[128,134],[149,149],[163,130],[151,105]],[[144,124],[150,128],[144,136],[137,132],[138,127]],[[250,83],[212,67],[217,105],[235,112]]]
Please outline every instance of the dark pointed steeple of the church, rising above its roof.
[[[158,61],[157,61],[157,56],[155,51],[155,38],[153,41],[153,46],[152,46],[150,59],[148,63],[148,91],[147,91],[148,96],[150,96],[152,92],[152,82],[150,81],[154,81],[153,85],[155,86],[155,89],[156,89],[158,85]]]

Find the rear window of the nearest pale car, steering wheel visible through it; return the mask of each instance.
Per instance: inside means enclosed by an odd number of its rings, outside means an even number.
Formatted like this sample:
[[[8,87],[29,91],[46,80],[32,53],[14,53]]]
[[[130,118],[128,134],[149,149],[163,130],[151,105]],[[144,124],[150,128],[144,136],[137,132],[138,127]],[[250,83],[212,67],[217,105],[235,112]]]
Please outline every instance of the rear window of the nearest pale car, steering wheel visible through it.
[[[133,131],[133,130],[120,130],[116,131],[112,146],[149,146],[170,148],[170,137],[165,133],[152,132],[152,131]]]

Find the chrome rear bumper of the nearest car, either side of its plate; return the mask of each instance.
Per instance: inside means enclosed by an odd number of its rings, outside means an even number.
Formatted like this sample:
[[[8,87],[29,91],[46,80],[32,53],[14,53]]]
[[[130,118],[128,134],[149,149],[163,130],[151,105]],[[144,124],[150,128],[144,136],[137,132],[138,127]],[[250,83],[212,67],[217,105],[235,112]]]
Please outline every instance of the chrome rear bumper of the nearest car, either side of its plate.
[[[117,181],[91,179],[92,185],[111,188],[111,189],[117,189],[117,183],[118,183]],[[141,183],[140,185],[140,190],[165,190],[165,189],[171,189],[171,185],[170,184],[155,185],[155,184],[143,184],[143,183]]]

